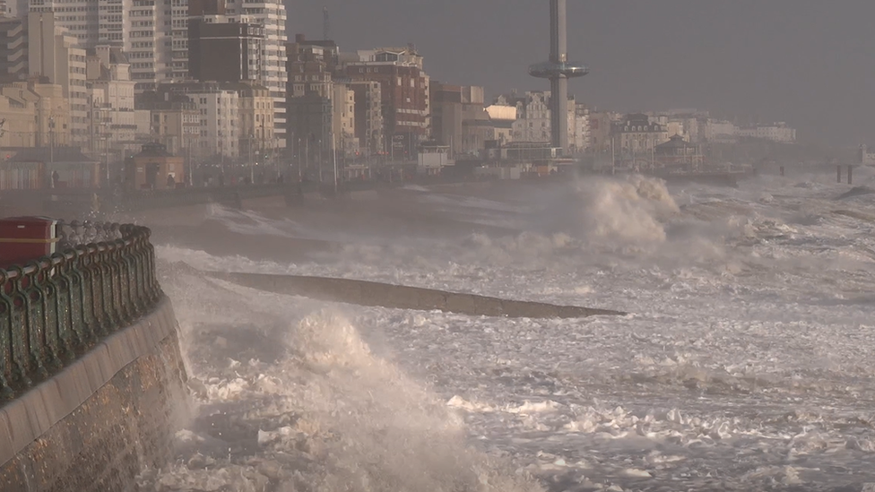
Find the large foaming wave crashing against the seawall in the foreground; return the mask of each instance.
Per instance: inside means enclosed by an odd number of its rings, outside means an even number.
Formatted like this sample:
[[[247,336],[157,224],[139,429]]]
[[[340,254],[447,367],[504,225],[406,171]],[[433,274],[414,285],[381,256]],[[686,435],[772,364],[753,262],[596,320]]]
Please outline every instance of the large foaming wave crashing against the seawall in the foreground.
[[[373,354],[341,306],[161,271],[198,410],[143,489],[540,490],[467,445],[462,421]]]

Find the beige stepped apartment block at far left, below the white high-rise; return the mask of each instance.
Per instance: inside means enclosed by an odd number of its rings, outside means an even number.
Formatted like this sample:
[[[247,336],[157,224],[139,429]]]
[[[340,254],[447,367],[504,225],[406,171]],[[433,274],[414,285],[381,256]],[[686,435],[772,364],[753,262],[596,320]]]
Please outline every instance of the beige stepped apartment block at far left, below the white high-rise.
[[[43,76],[61,86],[70,106],[70,143],[87,145],[88,93],[85,50],[57,25],[52,13],[28,14],[28,65],[31,76]]]

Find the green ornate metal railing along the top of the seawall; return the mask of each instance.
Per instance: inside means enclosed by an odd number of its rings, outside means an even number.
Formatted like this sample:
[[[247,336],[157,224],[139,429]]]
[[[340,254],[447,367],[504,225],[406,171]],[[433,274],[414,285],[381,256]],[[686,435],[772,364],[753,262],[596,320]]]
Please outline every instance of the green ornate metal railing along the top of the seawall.
[[[150,230],[59,223],[60,252],[0,269],[0,406],[163,297]]]

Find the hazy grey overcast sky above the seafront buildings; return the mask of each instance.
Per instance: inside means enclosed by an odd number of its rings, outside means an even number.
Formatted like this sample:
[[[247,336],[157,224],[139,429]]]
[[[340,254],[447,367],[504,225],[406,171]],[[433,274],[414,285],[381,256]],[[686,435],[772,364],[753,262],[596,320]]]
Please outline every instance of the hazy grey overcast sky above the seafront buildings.
[[[404,46],[435,80],[488,94],[549,88],[546,0],[286,0],[289,38],[343,50]],[[875,144],[875,0],[568,0],[571,82],[591,107],[707,109],[783,120],[816,142]]]

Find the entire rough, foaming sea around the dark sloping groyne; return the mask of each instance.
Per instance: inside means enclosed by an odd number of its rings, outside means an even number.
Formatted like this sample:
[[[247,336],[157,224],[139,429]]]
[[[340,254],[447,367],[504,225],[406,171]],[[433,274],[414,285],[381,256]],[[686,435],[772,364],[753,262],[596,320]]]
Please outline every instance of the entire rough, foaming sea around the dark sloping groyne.
[[[298,209],[213,206],[195,226],[158,220],[197,410],[175,462],[141,486],[875,487],[875,172],[854,177],[851,194],[829,172],[738,188],[408,186]],[[196,269],[628,315],[351,306]]]

